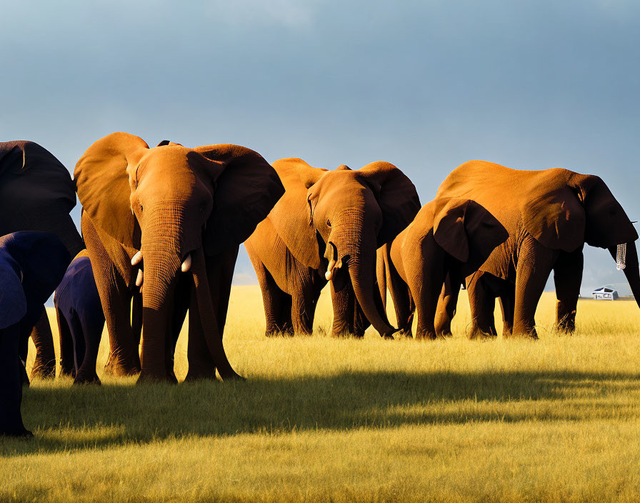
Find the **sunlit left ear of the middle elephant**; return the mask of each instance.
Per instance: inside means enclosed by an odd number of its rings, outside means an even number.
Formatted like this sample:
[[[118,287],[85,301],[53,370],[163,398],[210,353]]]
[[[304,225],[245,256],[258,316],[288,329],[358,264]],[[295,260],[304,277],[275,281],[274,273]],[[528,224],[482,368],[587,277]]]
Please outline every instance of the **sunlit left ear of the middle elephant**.
[[[296,260],[311,267],[320,268],[320,249],[316,228],[311,221],[311,209],[307,190],[322,178],[326,169],[309,166],[294,157],[274,162],[284,185],[284,196],[269,214],[279,236]]]

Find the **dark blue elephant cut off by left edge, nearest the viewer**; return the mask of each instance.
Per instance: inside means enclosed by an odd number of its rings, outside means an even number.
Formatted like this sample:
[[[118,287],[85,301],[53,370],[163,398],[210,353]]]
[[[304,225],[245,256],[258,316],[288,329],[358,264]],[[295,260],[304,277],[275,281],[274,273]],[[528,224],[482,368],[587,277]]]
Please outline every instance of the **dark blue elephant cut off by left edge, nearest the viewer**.
[[[19,231],[0,237],[0,434],[30,437],[20,412],[21,339],[71,261],[55,234]]]

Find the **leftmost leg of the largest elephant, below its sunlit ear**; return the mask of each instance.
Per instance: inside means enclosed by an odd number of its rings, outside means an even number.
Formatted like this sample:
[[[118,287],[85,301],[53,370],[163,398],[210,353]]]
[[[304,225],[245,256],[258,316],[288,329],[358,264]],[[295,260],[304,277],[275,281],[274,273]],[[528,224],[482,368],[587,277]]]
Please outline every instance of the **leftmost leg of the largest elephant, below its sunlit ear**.
[[[140,372],[138,342],[131,328],[131,291],[111,262],[93,224],[82,219],[86,249],[109,331],[107,374],[125,376]]]

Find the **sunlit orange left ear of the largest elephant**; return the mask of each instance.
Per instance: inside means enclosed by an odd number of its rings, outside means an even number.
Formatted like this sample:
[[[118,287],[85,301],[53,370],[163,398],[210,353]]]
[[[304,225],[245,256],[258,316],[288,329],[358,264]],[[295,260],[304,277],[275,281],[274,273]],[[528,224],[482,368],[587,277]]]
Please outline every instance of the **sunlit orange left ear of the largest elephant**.
[[[139,136],[112,133],[86,149],[74,171],[83,210],[96,226],[129,248],[135,247],[135,217],[127,167],[136,166],[148,151],[149,145]]]

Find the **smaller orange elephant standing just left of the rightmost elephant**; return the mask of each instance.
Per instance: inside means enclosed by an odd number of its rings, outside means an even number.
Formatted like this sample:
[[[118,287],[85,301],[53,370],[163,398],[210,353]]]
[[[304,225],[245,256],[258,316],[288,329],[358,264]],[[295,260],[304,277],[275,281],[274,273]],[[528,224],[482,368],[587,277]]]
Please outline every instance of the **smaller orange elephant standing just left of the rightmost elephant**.
[[[451,335],[461,283],[509,237],[483,206],[464,198],[434,199],[414,221],[378,249],[376,274],[385,301],[389,287],[401,334],[416,339]]]

